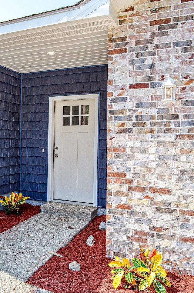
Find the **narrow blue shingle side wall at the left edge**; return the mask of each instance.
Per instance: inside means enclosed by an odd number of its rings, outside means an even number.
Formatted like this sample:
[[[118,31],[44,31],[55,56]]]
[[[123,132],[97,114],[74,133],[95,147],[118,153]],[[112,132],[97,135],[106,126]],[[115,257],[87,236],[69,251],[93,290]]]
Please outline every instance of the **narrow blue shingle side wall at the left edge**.
[[[0,195],[19,189],[20,83],[0,67]]]

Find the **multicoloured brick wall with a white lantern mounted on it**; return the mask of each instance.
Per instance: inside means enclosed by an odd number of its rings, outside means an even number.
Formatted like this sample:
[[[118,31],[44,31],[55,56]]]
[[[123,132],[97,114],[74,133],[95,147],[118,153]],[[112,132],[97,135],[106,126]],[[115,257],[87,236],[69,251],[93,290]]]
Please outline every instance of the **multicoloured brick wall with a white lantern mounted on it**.
[[[194,1],[136,1],[109,30],[107,256],[194,272]],[[170,76],[176,100],[162,102]],[[171,268],[174,262],[171,264]]]

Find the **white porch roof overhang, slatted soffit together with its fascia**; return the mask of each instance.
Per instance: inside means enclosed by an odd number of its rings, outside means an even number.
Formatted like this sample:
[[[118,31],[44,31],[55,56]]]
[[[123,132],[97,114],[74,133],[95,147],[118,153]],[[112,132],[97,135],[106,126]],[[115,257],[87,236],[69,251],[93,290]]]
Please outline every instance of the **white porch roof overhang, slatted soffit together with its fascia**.
[[[132,0],[85,0],[2,22],[0,65],[26,73],[107,64],[108,27],[116,25],[117,11],[126,2],[130,6]]]

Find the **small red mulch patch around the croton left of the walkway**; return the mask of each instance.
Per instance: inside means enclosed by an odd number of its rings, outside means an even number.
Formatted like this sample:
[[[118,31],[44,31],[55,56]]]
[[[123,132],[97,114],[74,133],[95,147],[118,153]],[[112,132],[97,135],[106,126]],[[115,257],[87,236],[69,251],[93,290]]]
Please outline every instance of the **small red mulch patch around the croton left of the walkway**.
[[[19,216],[14,214],[6,216],[5,211],[0,211],[0,233],[38,214],[40,212],[40,205],[24,203],[20,206],[19,211],[22,213]]]

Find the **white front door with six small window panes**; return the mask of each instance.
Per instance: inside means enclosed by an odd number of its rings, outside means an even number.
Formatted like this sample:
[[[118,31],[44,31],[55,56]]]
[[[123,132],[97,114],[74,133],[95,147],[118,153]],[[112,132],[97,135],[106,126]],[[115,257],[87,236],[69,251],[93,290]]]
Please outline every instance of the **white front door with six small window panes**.
[[[54,199],[93,203],[95,99],[55,101]]]

